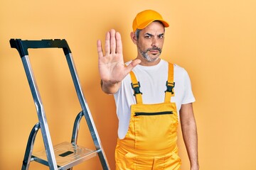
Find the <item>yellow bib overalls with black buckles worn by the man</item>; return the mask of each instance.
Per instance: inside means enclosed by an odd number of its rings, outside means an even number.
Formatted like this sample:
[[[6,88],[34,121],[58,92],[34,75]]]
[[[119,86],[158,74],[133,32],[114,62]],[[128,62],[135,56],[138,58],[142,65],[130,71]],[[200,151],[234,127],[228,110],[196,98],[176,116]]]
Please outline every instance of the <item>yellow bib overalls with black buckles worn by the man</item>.
[[[164,103],[143,104],[139,81],[133,72],[130,75],[137,104],[131,106],[127,135],[123,140],[117,139],[116,169],[179,169],[181,159],[176,145],[178,114],[176,103],[171,103],[175,85],[174,64],[169,64]]]

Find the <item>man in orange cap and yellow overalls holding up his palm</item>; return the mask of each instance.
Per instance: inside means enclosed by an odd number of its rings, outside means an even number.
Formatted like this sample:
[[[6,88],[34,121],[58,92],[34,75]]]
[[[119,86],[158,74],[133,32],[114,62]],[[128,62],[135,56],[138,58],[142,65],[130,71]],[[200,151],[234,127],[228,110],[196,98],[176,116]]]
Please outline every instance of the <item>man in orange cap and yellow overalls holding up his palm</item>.
[[[137,58],[126,64],[118,32],[106,34],[105,54],[97,40],[102,91],[114,94],[119,119],[116,169],[180,169],[178,118],[191,170],[199,169],[190,79],[185,69],[160,59],[166,27],[156,11],[138,13],[130,35]]]

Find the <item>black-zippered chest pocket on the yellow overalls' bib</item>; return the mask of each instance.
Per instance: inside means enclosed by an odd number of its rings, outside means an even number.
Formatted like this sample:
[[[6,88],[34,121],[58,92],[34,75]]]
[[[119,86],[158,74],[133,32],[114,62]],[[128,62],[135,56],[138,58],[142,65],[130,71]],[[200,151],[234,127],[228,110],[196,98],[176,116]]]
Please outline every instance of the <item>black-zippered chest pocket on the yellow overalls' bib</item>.
[[[134,113],[135,148],[158,150],[170,147],[175,122],[173,111]]]

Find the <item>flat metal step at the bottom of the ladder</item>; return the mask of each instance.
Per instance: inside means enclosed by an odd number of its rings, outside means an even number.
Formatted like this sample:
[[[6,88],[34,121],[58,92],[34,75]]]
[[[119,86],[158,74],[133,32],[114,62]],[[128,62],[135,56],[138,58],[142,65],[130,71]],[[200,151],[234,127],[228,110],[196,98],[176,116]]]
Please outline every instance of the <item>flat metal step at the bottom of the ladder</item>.
[[[70,142],[63,142],[53,146],[55,159],[58,169],[70,169],[71,167],[85,162],[87,159],[97,156],[99,150],[91,150],[85,147],[72,144]],[[36,162],[48,166],[46,151],[36,152],[32,155],[32,159]]]

